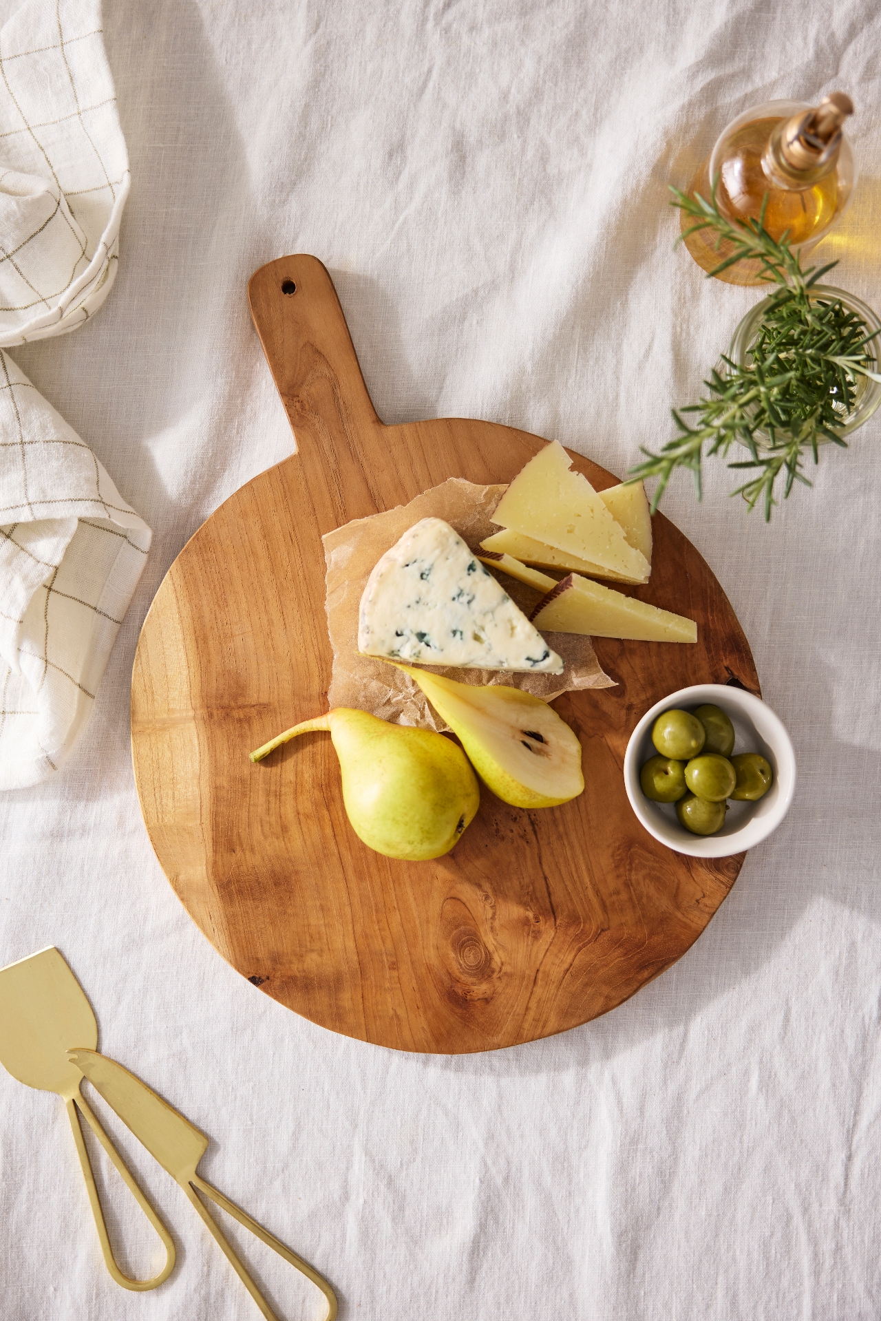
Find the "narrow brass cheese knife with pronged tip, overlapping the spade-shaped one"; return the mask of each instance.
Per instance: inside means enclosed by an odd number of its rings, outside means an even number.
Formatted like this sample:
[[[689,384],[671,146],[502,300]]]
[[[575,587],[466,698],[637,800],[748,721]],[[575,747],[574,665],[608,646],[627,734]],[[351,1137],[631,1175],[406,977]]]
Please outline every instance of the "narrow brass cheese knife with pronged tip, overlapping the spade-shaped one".
[[[225,1211],[229,1211],[230,1215],[235,1217],[239,1225],[256,1234],[263,1243],[273,1248],[285,1262],[296,1267],[297,1271],[301,1271],[306,1279],[312,1280],[321,1289],[328,1303],[325,1321],[334,1321],[337,1316],[337,1296],[324,1276],[318,1275],[308,1262],[304,1262],[301,1256],[287,1248],[268,1230],[264,1230],[256,1221],[251,1219],[240,1207],[225,1197],[223,1193],[218,1193],[215,1188],[211,1188],[210,1184],[195,1173],[195,1166],[205,1155],[209,1144],[205,1133],[194,1128],[189,1119],[178,1115],[147,1083],[143,1083],[140,1078],[136,1078],[135,1074],[129,1073],[128,1069],[123,1069],[114,1059],[107,1059],[91,1048],[69,1050],[67,1058],[83,1077],[88,1078],[90,1083],[100,1092],[111,1110],[116,1111],[122,1122],[131,1128],[135,1137],[144,1144],[151,1156],[168,1170],[172,1178],[177,1180],[221,1244],[267,1321],[277,1321],[277,1318],[221,1232],[217,1221],[214,1221],[202,1199],[197,1196],[197,1189],[205,1197],[210,1198],[210,1201],[217,1202]]]

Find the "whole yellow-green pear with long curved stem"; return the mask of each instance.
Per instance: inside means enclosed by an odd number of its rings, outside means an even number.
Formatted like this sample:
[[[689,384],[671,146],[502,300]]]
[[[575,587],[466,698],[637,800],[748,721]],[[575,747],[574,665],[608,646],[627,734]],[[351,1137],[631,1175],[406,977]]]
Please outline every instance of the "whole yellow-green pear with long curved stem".
[[[468,757],[431,729],[392,725],[366,711],[337,707],[304,720],[251,753],[330,731],[342,771],[342,801],[358,839],[386,857],[411,863],[449,853],[474,819],[481,793]]]

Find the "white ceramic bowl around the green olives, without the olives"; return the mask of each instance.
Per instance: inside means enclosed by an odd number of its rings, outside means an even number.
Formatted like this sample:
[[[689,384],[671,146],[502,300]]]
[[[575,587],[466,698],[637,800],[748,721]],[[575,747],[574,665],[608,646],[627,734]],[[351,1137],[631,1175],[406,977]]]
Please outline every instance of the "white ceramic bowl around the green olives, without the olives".
[[[757,803],[730,803],[725,824],[717,835],[691,835],[676,818],[672,803],[652,803],[642,791],[639,771],[655,756],[651,727],[656,717],[674,707],[693,711],[712,703],[728,715],[734,725],[734,754],[761,752],[771,764],[774,783]],[[671,692],[656,701],[630,736],[623,760],[623,782],[634,812],[662,844],[691,857],[728,857],[753,848],[777,830],[790,810],[795,794],[795,753],[783,723],[761,697],[742,688],[721,683],[700,683],[693,688]]]

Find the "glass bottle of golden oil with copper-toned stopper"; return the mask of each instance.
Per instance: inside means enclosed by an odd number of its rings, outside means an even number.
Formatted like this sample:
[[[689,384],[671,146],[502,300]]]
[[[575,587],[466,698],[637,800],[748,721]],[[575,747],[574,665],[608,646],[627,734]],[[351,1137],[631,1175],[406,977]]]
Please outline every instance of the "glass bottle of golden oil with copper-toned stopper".
[[[695,174],[688,193],[716,203],[729,221],[758,219],[765,205],[765,229],[774,239],[789,231],[794,248],[816,243],[848,205],[856,168],[841,131],[853,114],[849,96],[832,92],[819,106],[769,100],[734,119]],[[683,232],[695,223],[680,211]],[[730,247],[712,230],[688,235],[684,244],[704,271],[724,262]],[[761,284],[758,262],[737,262],[720,272],[728,284]]]

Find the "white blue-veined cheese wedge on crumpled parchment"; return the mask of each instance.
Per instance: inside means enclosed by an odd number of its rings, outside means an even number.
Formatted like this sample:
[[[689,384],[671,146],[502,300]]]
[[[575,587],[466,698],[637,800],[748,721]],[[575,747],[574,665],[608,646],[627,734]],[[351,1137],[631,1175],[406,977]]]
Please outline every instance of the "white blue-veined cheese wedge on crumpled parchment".
[[[556,651],[441,518],[415,523],[374,567],[358,650],[417,664],[563,674]]]

